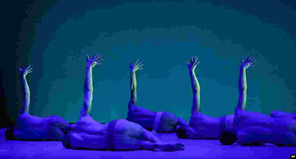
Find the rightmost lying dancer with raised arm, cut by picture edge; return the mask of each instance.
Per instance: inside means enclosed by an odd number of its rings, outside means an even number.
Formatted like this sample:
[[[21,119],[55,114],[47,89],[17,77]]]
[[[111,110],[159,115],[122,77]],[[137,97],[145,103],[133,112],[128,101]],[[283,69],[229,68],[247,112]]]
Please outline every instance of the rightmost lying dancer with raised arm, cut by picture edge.
[[[255,66],[254,62],[254,58],[249,57],[246,61],[242,60],[240,67],[239,102],[235,109],[233,121],[236,135],[224,134],[221,136],[221,140],[231,141],[231,144],[236,141],[242,145],[263,145],[264,143],[279,146],[296,145],[296,136],[293,134],[296,122],[292,116],[270,117],[256,112],[245,111],[247,100],[246,69]],[[272,116],[275,114],[272,114]]]

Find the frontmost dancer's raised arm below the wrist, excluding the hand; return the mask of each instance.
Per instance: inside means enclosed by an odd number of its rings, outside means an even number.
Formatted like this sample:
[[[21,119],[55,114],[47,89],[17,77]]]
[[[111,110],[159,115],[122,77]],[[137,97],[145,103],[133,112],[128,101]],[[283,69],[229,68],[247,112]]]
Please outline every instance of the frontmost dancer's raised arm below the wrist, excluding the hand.
[[[84,80],[84,102],[81,110],[81,116],[90,114],[92,97],[93,97],[92,68],[87,67],[86,77]]]

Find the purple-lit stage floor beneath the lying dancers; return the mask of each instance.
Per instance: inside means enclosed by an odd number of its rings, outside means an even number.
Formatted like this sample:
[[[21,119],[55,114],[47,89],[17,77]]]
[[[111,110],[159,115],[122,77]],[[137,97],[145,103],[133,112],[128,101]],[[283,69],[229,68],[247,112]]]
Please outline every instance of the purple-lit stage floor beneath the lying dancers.
[[[0,129],[0,158],[279,158],[289,159],[296,147],[222,146],[218,140],[177,139],[174,134],[160,134],[163,141],[178,141],[185,145],[184,151],[153,152],[147,150],[112,152],[65,149],[62,142],[6,141]]]

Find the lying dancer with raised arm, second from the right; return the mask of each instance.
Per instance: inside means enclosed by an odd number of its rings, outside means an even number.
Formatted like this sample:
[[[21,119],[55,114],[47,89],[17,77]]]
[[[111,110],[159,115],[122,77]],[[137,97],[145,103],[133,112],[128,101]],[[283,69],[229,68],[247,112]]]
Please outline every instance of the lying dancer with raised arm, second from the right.
[[[189,125],[194,129],[194,133],[179,134],[179,138],[189,139],[219,139],[222,132],[231,130],[234,115],[223,117],[211,117],[200,112],[200,85],[195,75],[195,68],[199,64],[196,56],[191,56],[190,62],[186,62],[189,68],[193,101]],[[187,135],[187,136],[186,136]]]

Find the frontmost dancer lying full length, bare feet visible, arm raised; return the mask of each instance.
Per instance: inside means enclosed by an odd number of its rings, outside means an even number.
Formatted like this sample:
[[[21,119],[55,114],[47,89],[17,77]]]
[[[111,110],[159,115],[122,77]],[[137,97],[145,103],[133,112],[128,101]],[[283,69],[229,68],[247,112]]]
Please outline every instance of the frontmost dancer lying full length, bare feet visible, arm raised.
[[[163,143],[152,132],[145,130],[136,123],[121,119],[100,124],[92,119],[90,116],[93,97],[92,68],[97,64],[102,64],[100,56],[96,54],[91,59],[87,56],[81,116],[76,122],[76,126],[63,139],[64,147],[100,150],[183,150],[183,144]]]

